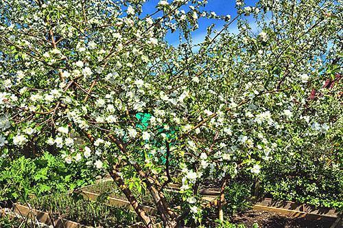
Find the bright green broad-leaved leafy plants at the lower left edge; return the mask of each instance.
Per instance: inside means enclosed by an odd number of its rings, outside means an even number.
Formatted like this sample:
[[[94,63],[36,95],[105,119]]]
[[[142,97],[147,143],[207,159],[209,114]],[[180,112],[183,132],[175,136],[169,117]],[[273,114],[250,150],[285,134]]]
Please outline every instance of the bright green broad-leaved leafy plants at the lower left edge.
[[[82,163],[67,164],[48,152],[30,159],[0,159],[0,200],[26,201],[29,195],[67,192],[93,182],[96,171]]]

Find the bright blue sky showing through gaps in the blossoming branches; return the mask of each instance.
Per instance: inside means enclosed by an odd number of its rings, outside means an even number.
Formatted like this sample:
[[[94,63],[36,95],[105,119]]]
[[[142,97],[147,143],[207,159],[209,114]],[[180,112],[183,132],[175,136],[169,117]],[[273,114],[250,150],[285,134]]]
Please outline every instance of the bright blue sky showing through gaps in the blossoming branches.
[[[150,0],[143,5],[143,12],[146,14],[150,14],[154,12],[156,9],[154,8],[159,0]],[[171,0],[168,0],[171,2]],[[249,6],[254,6],[257,0],[246,0],[244,3]],[[237,15],[237,10],[235,8],[236,1],[235,0],[209,0],[209,3],[206,5],[204,10],[213,11],[217,15],[227,15],[230,14],[231,18],[234,18]],[[200,19],[199,20],[199,29],[193,33],[193,41],[195,43],[199,43],[204,39],[206,35],[206,27],[211,25],[212,23],[215,24],[215,28],[220,30],[224,25],[223,21],[218,21],[214,19]],[[237,30],[237,25],[233,23],[229,27],[230,31],[235,32]],[[176,45],[178,43],[178,33],[169,34],[167,36],[167,41],[171,44]]]

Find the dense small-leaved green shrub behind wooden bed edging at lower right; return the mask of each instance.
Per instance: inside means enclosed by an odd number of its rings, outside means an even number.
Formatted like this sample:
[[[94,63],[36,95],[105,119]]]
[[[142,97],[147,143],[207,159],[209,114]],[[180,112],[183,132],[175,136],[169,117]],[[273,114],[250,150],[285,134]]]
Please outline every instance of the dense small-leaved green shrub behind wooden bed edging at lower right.
[[[294,155],[265,166],[261,187],[263,194],[275,199],[342,210],[342,175],[342,168],[306,154]]]

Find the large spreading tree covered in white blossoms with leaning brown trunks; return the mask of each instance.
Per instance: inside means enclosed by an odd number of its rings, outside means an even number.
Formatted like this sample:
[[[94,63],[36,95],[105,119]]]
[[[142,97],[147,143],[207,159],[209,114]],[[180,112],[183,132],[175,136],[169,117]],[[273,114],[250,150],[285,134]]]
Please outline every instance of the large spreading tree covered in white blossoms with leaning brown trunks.
[[[47,150],[107,170],[148,225],[126,184],[143,186],[165,227],[200,221],[202,185],[288,152],[318,148],[341,166],[339,2],[237,1],[230,19],[206,0],[159,1],[151,15],[139,0],[1,1],[1,156]],[[199,19],[224,27],[195,43]],[[176,176],[181,209],[163,194]]]

